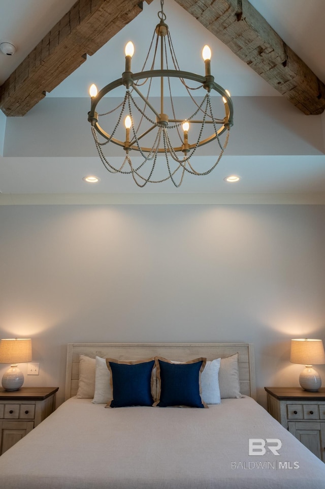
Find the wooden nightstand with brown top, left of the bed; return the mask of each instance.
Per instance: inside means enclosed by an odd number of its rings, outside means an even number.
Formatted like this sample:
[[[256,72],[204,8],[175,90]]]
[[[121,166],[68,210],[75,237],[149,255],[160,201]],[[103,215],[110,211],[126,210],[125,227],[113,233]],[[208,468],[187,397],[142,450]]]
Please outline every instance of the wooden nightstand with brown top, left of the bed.
[[[55,410],[58,387],[0,389],[0,455]]]

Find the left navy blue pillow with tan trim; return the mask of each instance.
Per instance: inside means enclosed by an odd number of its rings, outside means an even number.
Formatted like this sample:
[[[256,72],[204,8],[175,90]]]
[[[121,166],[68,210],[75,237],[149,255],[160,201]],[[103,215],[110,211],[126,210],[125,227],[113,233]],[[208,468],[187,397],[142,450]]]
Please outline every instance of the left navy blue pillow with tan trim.
[[[119,362],[106,359],[111,371],[113,400],[111,408],[152,406],[151,373],[154,359],[141,362]]]

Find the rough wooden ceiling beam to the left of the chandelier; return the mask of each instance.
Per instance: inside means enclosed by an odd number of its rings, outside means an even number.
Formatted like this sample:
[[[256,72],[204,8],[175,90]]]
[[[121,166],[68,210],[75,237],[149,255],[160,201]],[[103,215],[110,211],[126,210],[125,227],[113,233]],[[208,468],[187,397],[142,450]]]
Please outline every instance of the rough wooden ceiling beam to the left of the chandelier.
[[[26,114],[141,11],[139,0],[78,0],[0,87],[1,110]]]

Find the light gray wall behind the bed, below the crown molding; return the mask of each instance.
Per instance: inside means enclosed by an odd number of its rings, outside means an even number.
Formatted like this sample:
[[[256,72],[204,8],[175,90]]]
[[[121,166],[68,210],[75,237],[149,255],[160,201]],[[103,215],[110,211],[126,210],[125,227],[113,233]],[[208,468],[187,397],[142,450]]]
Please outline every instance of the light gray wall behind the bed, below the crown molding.
[[[317,205],[1,206],[1,337],[32,338],[40,376],[25,385],[59,385],[59,402],[69,342],[251,342],[265,404],[265,385],[298,385],[290,339],[325,340],[324,218]]]

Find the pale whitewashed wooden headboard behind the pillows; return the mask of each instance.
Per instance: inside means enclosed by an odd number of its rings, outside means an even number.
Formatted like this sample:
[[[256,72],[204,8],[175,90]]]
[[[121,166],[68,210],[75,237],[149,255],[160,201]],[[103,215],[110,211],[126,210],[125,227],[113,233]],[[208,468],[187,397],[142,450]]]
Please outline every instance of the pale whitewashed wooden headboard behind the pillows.
[[[76,395],[79,379],[79,355],[91,358],[138,360],[163,356],[186,361],[198,357],[208,360],[238,353],[239,381],[242,394],[256,399],[254,350],[250,343],[69,343],[67,351],[66,400]]]

